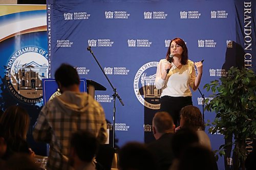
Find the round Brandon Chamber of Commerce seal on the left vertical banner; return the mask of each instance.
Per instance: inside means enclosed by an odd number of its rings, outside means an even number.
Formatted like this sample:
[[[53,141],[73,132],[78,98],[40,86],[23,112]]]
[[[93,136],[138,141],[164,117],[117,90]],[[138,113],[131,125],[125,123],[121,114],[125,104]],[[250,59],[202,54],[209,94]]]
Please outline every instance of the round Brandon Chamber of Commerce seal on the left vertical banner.
[[[42,79],[49,77],[47,51],[40,47],[20,48],[8,60],[6,82],[16,99],[26,103],[42,101]]]

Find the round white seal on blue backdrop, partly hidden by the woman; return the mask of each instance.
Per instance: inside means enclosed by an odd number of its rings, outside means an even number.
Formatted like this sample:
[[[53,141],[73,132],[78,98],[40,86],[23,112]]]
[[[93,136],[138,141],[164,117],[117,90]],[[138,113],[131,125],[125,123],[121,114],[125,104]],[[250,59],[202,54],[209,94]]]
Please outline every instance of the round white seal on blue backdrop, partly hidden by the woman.
[[[148,62],[139,68],[134,78],[134,92],[142,105],[150,109],[160,109],[162,89],[156,89],[156,67],[158,62]]]

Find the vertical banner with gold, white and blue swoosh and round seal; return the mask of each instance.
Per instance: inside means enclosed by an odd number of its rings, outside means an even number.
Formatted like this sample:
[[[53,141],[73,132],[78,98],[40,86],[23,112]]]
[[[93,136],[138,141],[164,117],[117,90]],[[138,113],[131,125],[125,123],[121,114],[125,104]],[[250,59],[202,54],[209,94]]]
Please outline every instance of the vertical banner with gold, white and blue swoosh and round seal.
[[[24,107],[30,115],[28,142],[36,147],[32,126],[42,106],[42,78],[49,78],[45,5],[0,5],[0,105]],[[37,151],[38,150],[38,151]]]

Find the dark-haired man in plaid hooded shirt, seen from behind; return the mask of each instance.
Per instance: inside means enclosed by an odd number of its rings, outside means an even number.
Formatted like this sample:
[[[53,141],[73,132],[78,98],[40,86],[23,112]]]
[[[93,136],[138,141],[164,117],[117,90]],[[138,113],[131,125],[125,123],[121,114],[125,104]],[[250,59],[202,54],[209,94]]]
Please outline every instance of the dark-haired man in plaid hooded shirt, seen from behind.
[[[71,134],[86,130],[104,143],[106,120],[103,108],[89,94],[79,91],[79,76],[71,65],[62,64],[55,72],[61,95],[47,102],[34,127],[36,141],[50,143],[48,170],[69,169]]]

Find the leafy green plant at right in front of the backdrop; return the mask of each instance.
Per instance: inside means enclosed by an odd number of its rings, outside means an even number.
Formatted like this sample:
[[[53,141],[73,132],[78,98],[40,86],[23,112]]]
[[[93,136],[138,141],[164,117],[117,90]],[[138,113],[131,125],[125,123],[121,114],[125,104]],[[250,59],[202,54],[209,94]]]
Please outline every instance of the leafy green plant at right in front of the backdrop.
[[[205,110],[215,111],[216,118],[210,123],[209,133],[220,132],[225,138],[234,138],[230,143],[234,145],[233,153],[237,154],[239,164],[234,169],[245,169],[247,138],[256,136],[256,81],[253,70],[231,67],[227,77],[211,81],[205,84],[207,91],[212,91],[213,99],[205,100]],[[216,152],[220,156],[225,155],[225,147],[222,144]]]

